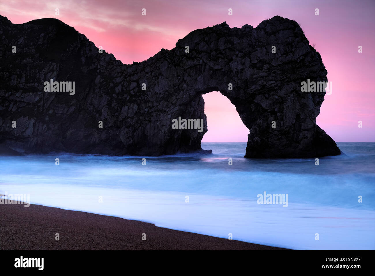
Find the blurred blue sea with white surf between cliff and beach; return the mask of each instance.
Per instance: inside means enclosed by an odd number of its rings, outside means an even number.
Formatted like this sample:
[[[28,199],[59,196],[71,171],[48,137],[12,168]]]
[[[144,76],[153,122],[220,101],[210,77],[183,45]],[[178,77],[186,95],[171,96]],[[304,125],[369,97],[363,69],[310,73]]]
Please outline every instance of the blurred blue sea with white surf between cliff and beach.
[[[338,146],[344,154],[319,166],[315,158],[246,159],[246,143],[161,157],[0,156],[0,194],[263,245],[375,249],[375,143]],[[264,192],[288,202],[258,204]]]

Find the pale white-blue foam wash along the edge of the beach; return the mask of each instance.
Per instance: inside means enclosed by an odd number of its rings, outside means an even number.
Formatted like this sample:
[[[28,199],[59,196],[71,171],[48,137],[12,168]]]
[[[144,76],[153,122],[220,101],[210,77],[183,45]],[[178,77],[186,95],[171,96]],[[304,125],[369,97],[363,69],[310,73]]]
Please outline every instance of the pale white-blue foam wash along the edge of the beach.
[[[374,249],[375,212],[178,192],[78,185],[0,184],[31,203],[151,222],[159,227],[291,249]],[[103,202],[99,203],[99,196]],[[319,233],[319,240],[315,234]]]

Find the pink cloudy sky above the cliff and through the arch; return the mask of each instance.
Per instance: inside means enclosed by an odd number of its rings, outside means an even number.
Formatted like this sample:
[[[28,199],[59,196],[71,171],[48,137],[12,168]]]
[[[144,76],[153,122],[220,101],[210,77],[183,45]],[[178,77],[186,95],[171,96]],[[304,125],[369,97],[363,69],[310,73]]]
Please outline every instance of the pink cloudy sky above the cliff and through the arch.
[[[60,19],[124,64],[147,60],[190,31],[223,21],[240,28],[275,15],[293,19],[315,43],[332,82],[317,124],[336,142],[375,142],[374,0],[0,0],[0,14],[16,24]],[[208,132],[202,142],[247,142],[249,130],[228,98],[219,92],[203,98]]]

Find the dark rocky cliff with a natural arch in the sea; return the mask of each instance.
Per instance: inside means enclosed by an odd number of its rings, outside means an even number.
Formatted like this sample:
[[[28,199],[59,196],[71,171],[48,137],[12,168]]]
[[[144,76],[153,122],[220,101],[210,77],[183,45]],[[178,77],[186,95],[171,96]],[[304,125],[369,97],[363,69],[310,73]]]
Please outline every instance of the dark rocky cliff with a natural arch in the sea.
[[[245,157],[340,154],[315,122],[325,91],[301,92],[307,79],[327,81],[327,71],[295,21],[275,16],[257,28],[223,22],[192,31],[170,51],[133,64],[99,53],[57,19],[12,24],[0,16],[0,37],[0,144],[18,152],[199,150],[207,132],[201,95],[220,91],[250,130]],[[74,81],[75,94],[45,92],[50,79]],[[204,130],[172,129],[178,117],[203,119]]]

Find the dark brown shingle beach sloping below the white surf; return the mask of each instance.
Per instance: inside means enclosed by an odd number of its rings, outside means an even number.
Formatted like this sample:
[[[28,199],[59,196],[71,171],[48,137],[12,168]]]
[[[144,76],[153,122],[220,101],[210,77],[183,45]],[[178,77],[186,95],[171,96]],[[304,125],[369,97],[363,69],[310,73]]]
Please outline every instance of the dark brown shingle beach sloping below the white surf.
[[[55,240],[55,234],[60,240]],[[146,240],[142,240],[142,233]],[[0,249],[283,249],[114,216],[30,204],[0,204]]]

